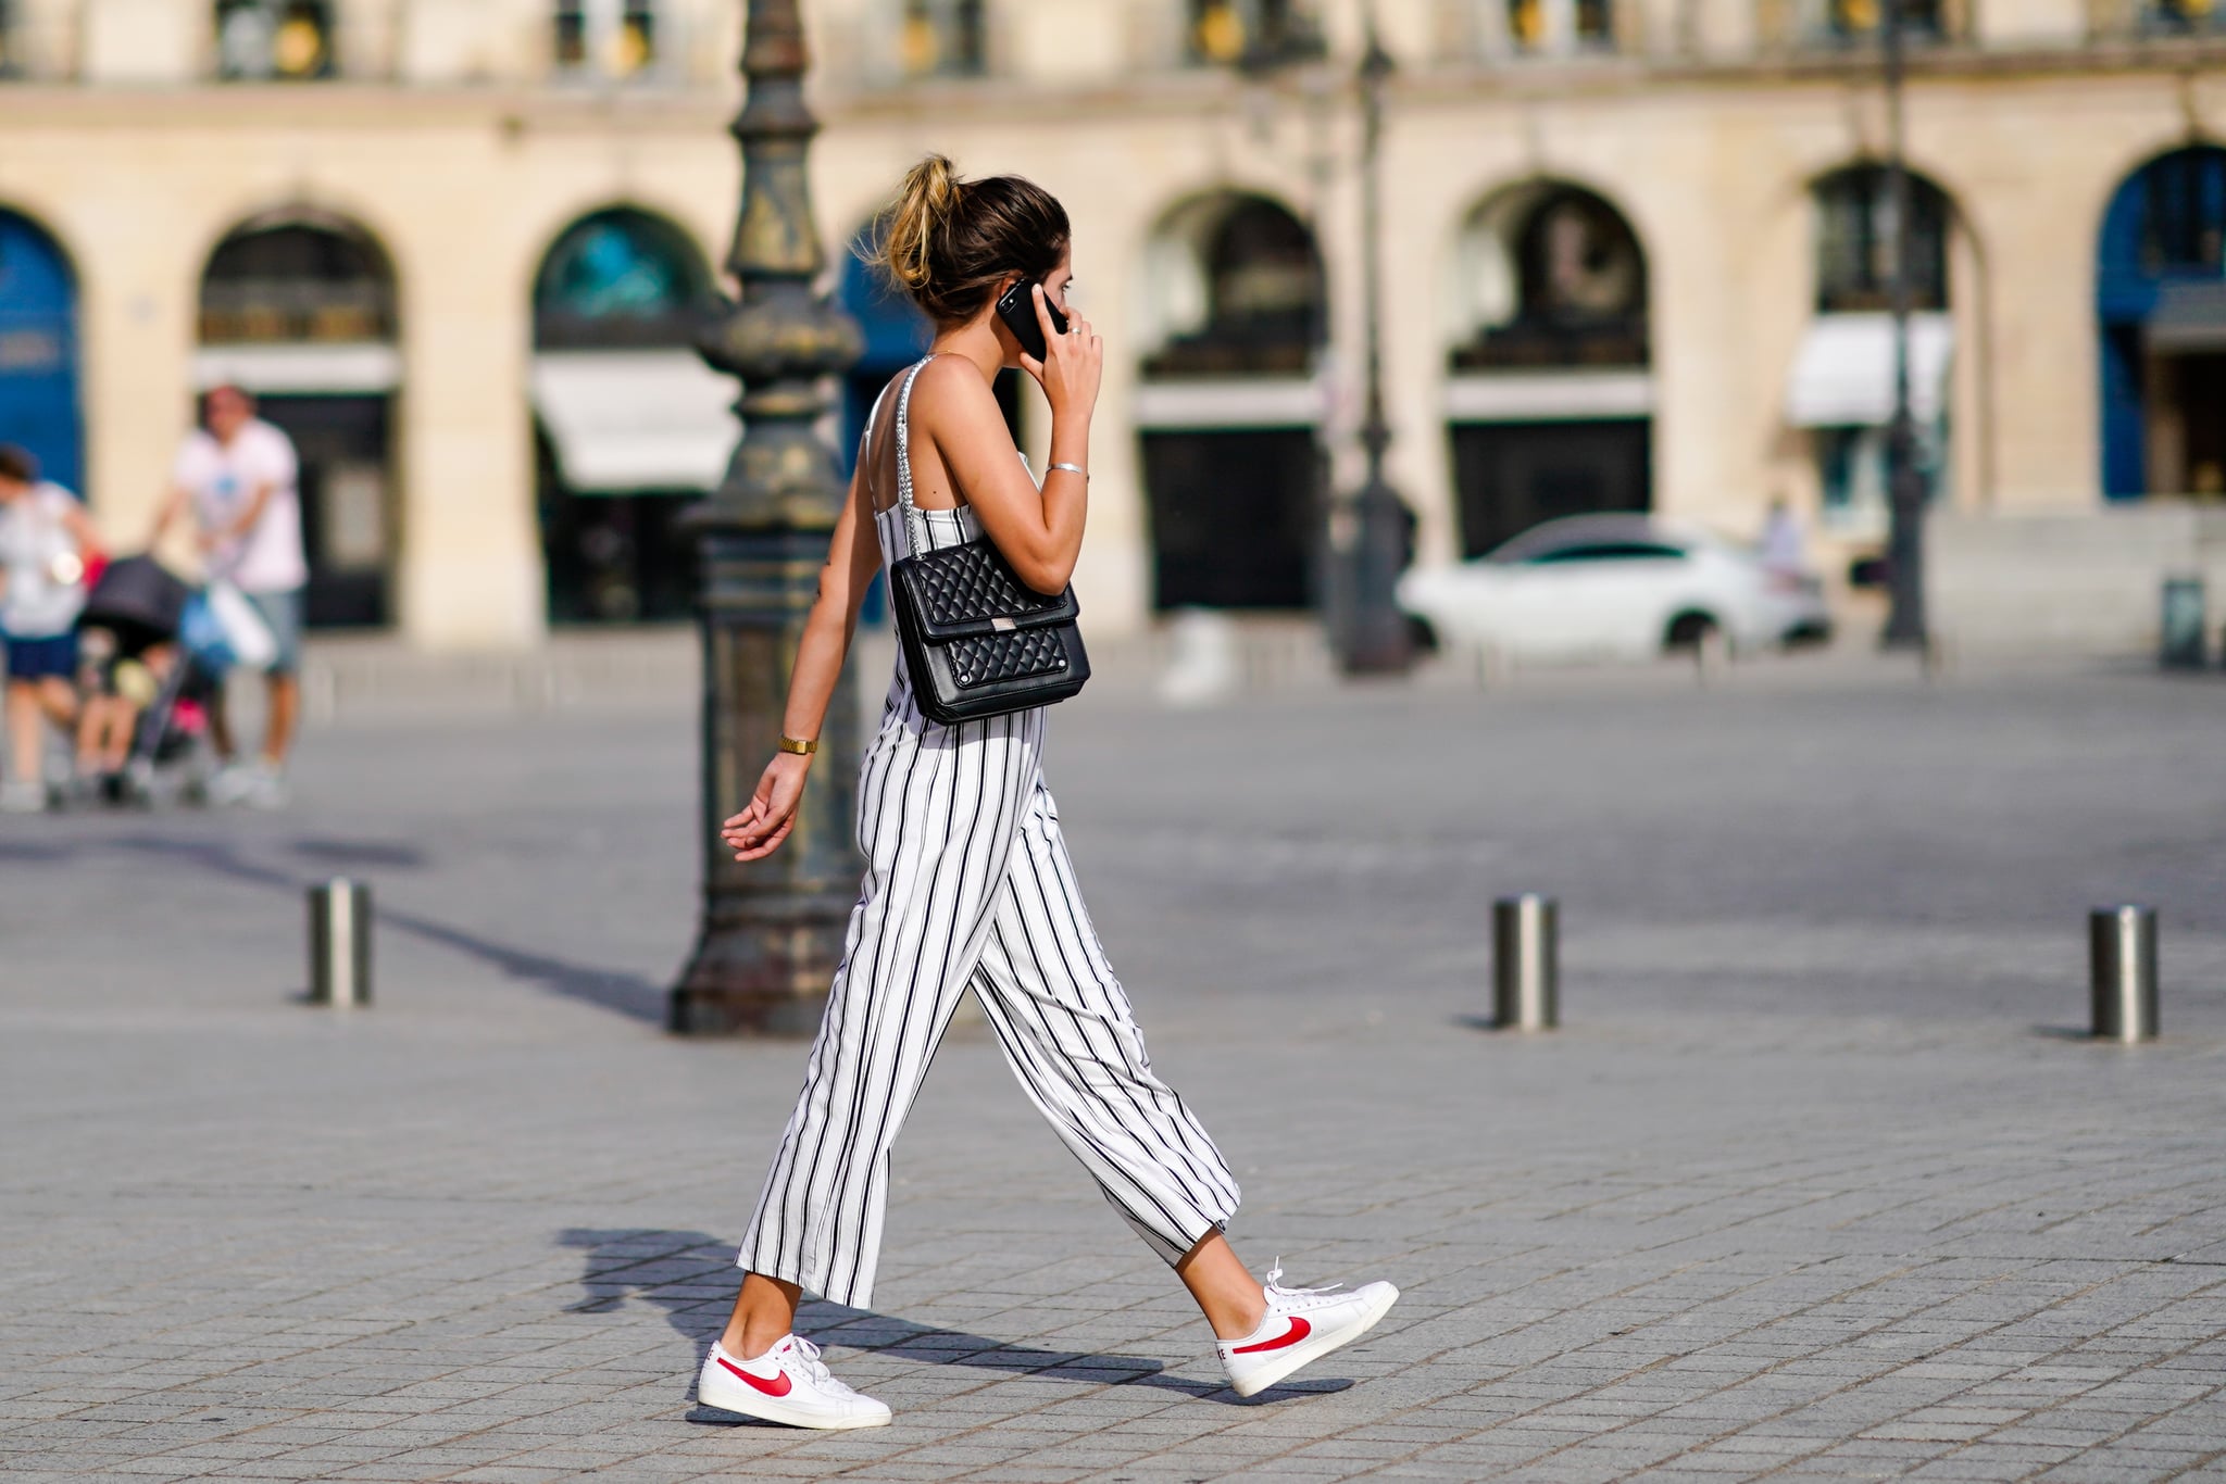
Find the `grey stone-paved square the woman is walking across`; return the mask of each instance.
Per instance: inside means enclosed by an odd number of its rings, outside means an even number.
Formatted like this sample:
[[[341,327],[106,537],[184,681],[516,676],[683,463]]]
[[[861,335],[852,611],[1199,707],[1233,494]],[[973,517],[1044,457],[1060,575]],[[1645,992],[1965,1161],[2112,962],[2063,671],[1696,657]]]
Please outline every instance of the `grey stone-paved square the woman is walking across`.
[[[679,710],[358,719],[276,817],[0,821],[0,1480],[2226,1480],[2226,683],[1658,676],[1062,708],[1160,1070],[1293,1282],[1253,1402],[982,1032],[897,1152],[895,1426],[688,1384],[801,1070],[657,1028]],[[378,1006],[301,992],[367,877]],[[1478,1028],[1560,894],[1565,1030]],[[2164,910],[2095,1046],[2084,912]]]

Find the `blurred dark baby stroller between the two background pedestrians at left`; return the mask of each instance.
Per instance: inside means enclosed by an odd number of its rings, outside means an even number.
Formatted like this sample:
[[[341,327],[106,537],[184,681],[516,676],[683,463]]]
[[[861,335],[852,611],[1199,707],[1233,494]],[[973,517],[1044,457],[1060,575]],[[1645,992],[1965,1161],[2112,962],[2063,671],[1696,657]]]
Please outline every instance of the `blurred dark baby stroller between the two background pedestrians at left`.
[[[207,799],[209,703],[223,672],[187,634],[194,590],[151,556],[109,563],[78,614],[87,750],[109,803]]]

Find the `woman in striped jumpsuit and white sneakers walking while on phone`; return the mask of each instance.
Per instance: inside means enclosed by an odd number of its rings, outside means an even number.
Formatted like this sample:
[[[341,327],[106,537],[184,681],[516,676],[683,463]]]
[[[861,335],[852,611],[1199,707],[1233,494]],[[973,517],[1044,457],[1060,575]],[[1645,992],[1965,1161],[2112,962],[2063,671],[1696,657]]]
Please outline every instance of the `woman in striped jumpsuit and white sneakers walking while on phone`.
[[[1066,309],[1066,211],[1015,176],[959,180],[930,156],[904,180],[879,263],[935,323],[928,356],[868,416],[788,687],[781,750],[726,821],[735,859],[781,845],[873,574],[926,543],[984,534],[1035,592],[1060,592],[1082,550],[1089,434],[1104,358]],[[995,314],[1031,285],[1044,334],[1026,354]],[[1068,314],[1066,329],[1053,309]],[[1051,403],[1037,485],[991,394],[1026,369]],[[1260,1284],[1222,1230],[1238,1184],[1213,1139],[1160,1081],[1129,999],[1082,908],[1042,779],[1044,708],[930,721],[906,665],[888,690],[859,785],[866,879],[826,1019],[737,1266],[741,1293],[697,1382],[706,1406],[810,1428],[888,1422],[797,1337],[804,1293],[873,1302],[888,1152],[959,995],[973,988],[1022,1090],[1106,1201],[1173,1268],[1253,1395],[1373,1326],[1398,1290]]]

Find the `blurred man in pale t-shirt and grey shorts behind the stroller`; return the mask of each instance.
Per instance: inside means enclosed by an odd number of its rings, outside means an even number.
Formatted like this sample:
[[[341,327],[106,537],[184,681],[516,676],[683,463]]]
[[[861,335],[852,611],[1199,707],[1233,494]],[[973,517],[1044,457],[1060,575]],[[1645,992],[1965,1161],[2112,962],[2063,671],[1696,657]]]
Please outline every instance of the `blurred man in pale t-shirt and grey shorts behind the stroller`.
[[[203,416],[207,429],[178,449],[149,545],[180,514],[191,514],[209,581],[238,587],[278,641],[267,670],[263,754],[254,765],[232,761],[232,728],[220,703],[211,716],[216,750],[227,763],[214,783],[216,799],[278,808],[301,710],[301,590],[309,581],[301,547],[301,461],[294,441],[258,418],[254,398],[238,387],[209,392]]]

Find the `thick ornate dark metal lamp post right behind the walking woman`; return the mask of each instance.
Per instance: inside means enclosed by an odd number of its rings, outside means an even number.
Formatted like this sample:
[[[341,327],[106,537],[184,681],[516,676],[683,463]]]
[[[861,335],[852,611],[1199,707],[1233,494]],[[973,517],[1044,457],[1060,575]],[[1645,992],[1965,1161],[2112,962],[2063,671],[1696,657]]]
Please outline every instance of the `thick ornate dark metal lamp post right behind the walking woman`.
[[[844,683],[828,708],[795,834],[772,859],[737,865],[719,845],[781,734],[788,674],[817,592],[844,485],[815,423],[821,378],[857,360],[857,325],[812,296],[824,265],[804,156],[817,120],[804,105],[797,0],[748,0],[741,73],[741,216],[721,300],[697,349],[743,383],[746,434],[726,478],[688,512],[701,561],[703,919],[672,988],[679,1032],[808,1032],[857,892],[850,841],[859,716]]]

